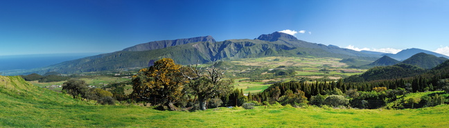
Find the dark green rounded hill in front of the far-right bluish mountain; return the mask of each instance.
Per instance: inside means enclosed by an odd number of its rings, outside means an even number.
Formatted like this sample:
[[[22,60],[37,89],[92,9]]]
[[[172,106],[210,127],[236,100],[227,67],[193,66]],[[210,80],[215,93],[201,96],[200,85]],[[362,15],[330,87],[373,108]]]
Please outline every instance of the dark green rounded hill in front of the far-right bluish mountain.
[[[448,59],[446,59],[445,57],[437,57],[435,55],[429,55],[426,53],[418,53],[408,58],[407,60],[404,60],[402,63],[430,69],[434,68],[435,66],[438,66],[439,64],[445,62],[446,60]]]

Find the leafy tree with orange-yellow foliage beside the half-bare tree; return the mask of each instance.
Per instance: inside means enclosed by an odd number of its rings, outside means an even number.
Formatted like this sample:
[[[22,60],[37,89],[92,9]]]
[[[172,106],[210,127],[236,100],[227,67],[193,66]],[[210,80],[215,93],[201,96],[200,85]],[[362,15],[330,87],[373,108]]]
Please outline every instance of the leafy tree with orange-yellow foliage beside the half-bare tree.
[[[182,89],[188,82],[179,70],[181,65],[170,58],[158,60],[149,68],[142,68],[132,76],[132,95],[136,98],[158,96],[162,104],[175,111],[174,103],[184,95]]]

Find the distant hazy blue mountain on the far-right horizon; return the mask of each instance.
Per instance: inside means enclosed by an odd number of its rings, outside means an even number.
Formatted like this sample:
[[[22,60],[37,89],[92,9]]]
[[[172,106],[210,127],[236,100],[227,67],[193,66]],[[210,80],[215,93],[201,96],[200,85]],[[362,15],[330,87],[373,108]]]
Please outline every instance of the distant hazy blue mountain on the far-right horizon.
[[[391,53],[387,53],[384,55],[387,55],[395,60],[406,60],[407,58],[412,57],[412,55],[415,55],[417,53],[426,53],[426,54],[430,54],[430,55],[435,55],[437,57],[446,57],[449,59],[449,57],[447,55],[442,55],[439,53],[434,53],[432,51],[426,51],[423,49],[419,49],[419,48],[409,48],[409,49],[405,49],[403,51],[400,51],[399,53],[396,54],[391,54]]]

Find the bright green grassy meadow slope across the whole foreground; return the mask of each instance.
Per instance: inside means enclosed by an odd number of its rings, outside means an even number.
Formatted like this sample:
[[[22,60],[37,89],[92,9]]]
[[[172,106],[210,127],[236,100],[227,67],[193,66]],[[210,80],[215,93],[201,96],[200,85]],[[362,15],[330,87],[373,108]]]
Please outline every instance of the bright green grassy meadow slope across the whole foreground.
[[[416,94],[421,95],[421,94]],[[75,100],[0,76],[1,127],[449,127],[449,105],[424,109],[241,107],[158,111]]]

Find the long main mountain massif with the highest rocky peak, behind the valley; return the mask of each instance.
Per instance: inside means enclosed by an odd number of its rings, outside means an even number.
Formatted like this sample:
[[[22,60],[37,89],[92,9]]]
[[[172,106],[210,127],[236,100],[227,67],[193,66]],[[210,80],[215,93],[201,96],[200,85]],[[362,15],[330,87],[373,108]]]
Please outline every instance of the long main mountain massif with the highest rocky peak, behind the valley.
[[[346,48],[304,42],[292,35],[274,32],[261,35],[256,39],[229,39],[223,42],[215,42],[210,36],[149,42],[125,48],[123,51],[85,57],[15,74],[44,74],[51,71],[67,74],[143,68],[164,57],[172,58],[177,64],[196,64],[198,61],[207,63],[268,56],[315,56],[361,60],[376,60],[380,57],[380,55],[361,53]]]

